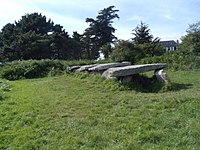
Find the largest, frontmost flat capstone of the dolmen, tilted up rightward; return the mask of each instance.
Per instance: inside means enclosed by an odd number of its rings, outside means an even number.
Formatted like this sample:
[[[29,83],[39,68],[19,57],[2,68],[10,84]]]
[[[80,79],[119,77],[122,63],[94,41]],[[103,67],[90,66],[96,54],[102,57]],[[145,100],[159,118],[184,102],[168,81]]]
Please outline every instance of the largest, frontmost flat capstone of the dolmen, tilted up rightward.
[[[166,68],[167,66],[168,65],[165,63],[156,63],[156,64],[131,65],[125,67],[109,68],[102,74],[102,76],[105,78],[125,77],[134,74],[144,73],[151,70],[160,70]]]

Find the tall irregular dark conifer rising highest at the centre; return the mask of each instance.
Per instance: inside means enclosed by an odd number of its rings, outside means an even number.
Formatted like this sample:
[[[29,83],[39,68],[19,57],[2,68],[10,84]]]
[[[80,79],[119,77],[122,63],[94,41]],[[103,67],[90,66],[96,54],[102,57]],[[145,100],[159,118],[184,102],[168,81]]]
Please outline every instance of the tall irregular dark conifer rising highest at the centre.
[[[115,10],[114,8],[115,6],[109,6],[100,10],[96,20],[93,18],[86,19],[86,22],[89,23],[89,28],[85,30],[85,35],[87,35],[85,37],[89,38],[87,41],[90,42],[87,46],[87,51],[91,50],[91,53],[95,54],[95,56],[92,56],[93,59],[99,56],[99,50],[102,47],[105,48],[106,45],[108,47],[108,45],[117,39],[113,34],[116,29],[112,27],[112,23],[113,19],[119,18],[117,14],[119,10]],[[106,58],[111,53],[110,49],[107,51],[104,49],[102,52]]]

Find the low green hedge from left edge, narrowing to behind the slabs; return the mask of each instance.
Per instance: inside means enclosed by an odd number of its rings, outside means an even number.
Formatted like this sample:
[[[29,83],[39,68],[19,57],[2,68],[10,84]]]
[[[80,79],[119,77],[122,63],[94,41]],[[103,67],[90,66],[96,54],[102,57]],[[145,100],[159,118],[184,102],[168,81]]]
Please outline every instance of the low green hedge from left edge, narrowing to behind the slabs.
[[[84,65],[91,61],[27,60],[13,61],[1,66],[0,76],[8,80],[31,79],[64,74],[72,65]]]

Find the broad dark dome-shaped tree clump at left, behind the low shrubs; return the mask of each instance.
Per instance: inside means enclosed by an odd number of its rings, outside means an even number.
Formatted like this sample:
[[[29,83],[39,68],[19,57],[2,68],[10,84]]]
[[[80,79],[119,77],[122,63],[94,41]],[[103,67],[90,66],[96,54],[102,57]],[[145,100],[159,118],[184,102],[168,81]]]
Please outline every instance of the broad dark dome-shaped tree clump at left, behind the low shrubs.
[[[1,59],[80,59],[75,38],[63,27],[38,13],[26,14],[14,24],[6,24],[0,32]]]

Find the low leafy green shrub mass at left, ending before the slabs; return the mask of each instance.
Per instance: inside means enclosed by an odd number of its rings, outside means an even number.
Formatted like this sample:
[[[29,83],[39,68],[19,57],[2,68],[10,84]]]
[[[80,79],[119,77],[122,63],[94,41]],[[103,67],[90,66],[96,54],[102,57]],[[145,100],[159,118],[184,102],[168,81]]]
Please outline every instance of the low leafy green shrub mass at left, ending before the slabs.
[[[48,75],[52,68],[64,70],[64,65],[60,61],[50,60],[14,61],[4,64],[0,75],[8,80],[38,78]]]

